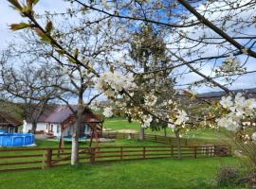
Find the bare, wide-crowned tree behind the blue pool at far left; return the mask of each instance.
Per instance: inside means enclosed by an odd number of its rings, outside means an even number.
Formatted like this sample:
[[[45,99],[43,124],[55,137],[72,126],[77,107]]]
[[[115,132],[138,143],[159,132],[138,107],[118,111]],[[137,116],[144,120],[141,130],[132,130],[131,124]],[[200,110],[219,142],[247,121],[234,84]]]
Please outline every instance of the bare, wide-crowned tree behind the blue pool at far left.
[[[13,65],[12,62],[17,59],[12,56],[12,50],[3,51],[1,56],[1,93],[22,110],[22,118],[32,124],[31,132],[34,133],[48,103],[62,94],[54,87],[60,85],[62,80],[56,74],[57,70],[45,64],[39,66],[28,61],[23,62],[21,67]]]

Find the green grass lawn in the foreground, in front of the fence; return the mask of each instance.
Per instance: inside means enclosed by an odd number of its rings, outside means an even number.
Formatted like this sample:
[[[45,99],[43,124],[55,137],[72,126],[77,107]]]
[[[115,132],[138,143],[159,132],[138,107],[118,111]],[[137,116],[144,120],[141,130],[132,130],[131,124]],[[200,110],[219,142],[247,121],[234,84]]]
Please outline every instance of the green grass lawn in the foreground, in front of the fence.
[[[47,170],[1,173],[0,188],[219,188],[216,187],[215,175],[218,166],[222,164],[238,165],[239,160],[235,158],[160,159],[98,163],[79,167],[67,165]]]

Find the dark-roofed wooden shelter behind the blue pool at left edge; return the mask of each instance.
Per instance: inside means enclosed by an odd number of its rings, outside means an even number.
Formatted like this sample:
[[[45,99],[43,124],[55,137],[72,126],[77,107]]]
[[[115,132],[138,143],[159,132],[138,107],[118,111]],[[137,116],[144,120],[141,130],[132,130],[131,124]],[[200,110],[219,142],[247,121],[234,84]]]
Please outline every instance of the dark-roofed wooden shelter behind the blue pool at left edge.
[[[7,112],[0,112],[0,129],[7,132],[17,132],[22,122],[9,115]]]

